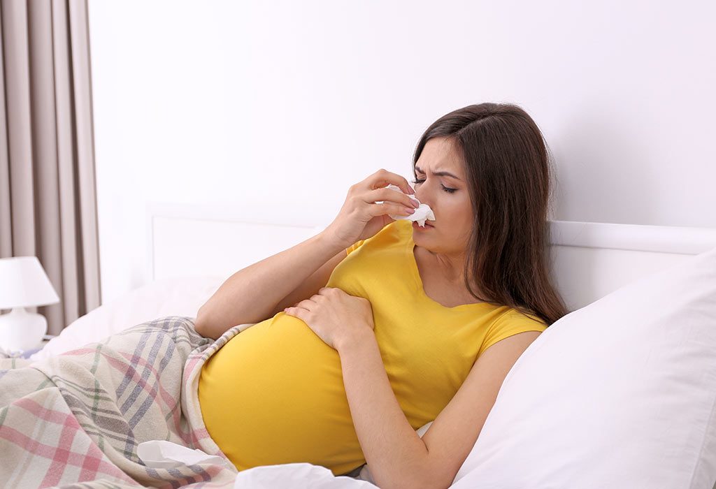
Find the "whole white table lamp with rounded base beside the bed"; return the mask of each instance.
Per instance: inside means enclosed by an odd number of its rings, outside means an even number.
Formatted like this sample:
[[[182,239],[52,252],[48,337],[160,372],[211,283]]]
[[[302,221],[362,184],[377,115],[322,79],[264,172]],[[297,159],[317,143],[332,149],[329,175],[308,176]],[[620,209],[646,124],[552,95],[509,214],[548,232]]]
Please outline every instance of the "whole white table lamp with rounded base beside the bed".
[[[25,307],[57,304],[59,297],[37,257],[0,258],[0,348],[6,352],[38,347],[47,319]]]

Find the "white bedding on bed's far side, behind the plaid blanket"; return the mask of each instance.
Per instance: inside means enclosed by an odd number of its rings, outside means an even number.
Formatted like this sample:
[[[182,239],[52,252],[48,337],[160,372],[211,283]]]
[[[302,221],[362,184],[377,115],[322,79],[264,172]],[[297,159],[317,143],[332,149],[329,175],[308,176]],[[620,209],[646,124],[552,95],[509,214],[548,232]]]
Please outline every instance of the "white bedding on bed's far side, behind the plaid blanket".
[[[30,356],[44,360],[87,343],[103,340],[141,322],[165,316],[196,317],[226,277],[179,277],[155,280],[78,317]]]

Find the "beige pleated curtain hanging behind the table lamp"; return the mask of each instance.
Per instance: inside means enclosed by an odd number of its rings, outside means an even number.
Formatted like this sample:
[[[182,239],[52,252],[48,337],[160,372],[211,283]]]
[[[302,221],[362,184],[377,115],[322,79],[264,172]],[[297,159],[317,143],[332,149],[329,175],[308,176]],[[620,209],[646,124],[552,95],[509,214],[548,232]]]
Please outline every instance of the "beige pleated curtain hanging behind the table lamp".
[[[0,39],[0,257],[38,257],[57,335],[100,305],[87,2],[0,0]]]

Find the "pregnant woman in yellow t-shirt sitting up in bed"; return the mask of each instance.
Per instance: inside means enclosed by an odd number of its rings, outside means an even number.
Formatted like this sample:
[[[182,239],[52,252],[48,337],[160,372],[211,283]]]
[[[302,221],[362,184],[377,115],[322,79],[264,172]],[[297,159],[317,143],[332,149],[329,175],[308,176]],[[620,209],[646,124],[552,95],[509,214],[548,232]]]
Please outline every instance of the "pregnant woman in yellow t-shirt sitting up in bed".
[[[380,487],[452,484],[505,375],[566,314],[548,277],[549,168],[520,107],[455,110],[420,138],[415,189],[380,169],[324,231],[229,277],[195,327],[257,323],[199,382],[236,468],[367,462]],[[434,214],[425,227],[390,217],[413,212],[412,194]]]

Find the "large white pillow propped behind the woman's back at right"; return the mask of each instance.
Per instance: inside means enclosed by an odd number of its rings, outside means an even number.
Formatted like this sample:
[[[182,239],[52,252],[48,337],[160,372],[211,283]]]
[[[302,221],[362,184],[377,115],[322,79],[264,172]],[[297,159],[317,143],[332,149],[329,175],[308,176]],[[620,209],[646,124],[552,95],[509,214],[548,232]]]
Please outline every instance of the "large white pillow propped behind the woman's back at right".
[[[716,248],[548,327],[451,487],[710,489],[715,400]]]

